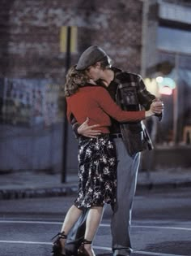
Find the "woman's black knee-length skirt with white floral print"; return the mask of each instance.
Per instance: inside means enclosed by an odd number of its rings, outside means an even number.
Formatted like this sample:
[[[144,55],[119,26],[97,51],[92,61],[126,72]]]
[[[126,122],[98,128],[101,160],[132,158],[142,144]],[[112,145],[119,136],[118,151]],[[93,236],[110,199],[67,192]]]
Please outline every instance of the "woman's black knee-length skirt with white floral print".
[[[79,209],[104,206],[116,201],[116,147],[108,134],[79,139],[79,192],[74,205]]]

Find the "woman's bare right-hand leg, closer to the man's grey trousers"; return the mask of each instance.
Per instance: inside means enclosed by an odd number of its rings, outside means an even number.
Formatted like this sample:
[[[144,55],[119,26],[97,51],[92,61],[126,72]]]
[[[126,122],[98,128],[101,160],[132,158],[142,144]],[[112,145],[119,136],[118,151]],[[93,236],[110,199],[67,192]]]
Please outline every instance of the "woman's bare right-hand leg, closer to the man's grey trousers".
[[[94,206],[88,212],[87,215],[87,228],[85,232],[84,239],[87,241],[93,241],[96,235],[97,229],[99,228],[100,221],[104,212],[104,207]],[[88,254],[94,256],[94,251],[92,250],[91,244],[84,243],[84,248],[87,250]]]

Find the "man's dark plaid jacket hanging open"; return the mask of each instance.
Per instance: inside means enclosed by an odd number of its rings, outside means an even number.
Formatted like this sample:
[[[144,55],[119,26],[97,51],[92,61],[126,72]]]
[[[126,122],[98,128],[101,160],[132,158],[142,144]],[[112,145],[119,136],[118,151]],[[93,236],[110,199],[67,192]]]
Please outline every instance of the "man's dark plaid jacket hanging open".
[[[140,111],[142,106],[149,110],[150,105],[155,101],[155,95],[146,90],[142,77],[129,72],[122,72],[113,67],[115,82],[117,82],[116,102],[124,111]],[[159,115],[161,119],[162,115]],[[130,155],[142,150],[152,150],[151,138],[146,131],[142,121],[120,124],[121,134],[125,147]]]

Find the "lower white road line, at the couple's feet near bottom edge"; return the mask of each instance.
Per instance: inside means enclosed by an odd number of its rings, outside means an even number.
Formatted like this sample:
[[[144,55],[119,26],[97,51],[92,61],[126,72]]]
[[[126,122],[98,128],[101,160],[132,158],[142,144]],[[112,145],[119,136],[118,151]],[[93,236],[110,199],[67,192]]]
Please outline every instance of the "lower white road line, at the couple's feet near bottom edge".
[[[40,242],[40,241],[6,241],[0,240],[0,243],[6,244],[24,244],[24,245],[53,245],[50,242]],[[110,247],[103,247],[103,246],[93,246],[94,249],[104,249],[108,251],[112,251]],[[153,255],[153,256],[182,256],[178,254],[161,254],[161,253],[151,253],[146,251],[134,251],[134,254],[144,254],[144,255]]]

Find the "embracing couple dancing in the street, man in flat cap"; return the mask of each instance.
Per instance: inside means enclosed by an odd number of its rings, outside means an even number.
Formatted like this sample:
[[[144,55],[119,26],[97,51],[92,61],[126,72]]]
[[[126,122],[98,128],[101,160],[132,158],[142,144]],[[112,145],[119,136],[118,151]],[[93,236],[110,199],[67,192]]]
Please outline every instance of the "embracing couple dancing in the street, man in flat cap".
[[[105,203],[112,206],[113,255],[128,256],[140,152],[153,148],[142,120],[161,119],[163,102],[146,90],[141,76],[112,67],[99,46],[87,48],[70,67],[65,96],[79,140],[79,191],[53,242],[53,256],[95,255],[92,241]]]

